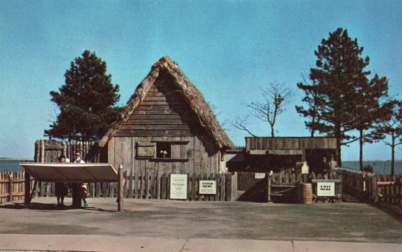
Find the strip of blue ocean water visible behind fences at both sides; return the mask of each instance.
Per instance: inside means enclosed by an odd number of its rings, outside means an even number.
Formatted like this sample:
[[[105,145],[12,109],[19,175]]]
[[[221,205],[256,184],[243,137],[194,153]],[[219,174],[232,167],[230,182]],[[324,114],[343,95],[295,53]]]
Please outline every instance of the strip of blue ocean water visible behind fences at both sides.
[[[20,162],[33,162],[33,160],[0,160],[0,172],[11,171],[19,172],[24,169],[20,166]],[[373,172],[376,174],[390,174],[391,173],[391,161],[363,161],[365,165],[373,166]],[[344,168],[359,170],[359,161],[343,161],[342,166]],[[395,174],[402,174],[402,161],[395,161]]]

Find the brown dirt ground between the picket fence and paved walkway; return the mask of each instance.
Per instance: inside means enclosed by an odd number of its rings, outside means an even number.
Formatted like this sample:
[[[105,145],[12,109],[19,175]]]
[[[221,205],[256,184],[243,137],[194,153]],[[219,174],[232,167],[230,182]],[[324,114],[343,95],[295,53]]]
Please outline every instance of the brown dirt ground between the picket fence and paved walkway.
[[[55,198],[0,205],[0,233],[99,234],[402,242],[402,220],[361,203],[275,204],[89,198],[85,209],[57,208]],[[66,205],[71,199],[66,199]]]

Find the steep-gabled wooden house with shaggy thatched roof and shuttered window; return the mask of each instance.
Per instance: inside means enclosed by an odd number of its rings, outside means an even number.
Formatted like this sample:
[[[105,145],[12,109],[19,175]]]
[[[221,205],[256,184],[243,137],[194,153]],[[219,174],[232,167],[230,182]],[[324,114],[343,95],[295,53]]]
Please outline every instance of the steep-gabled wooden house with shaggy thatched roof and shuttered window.
[[[168,57],[137,87],[100,140],[126,173],[220,173],[234,145],[203,95]]]

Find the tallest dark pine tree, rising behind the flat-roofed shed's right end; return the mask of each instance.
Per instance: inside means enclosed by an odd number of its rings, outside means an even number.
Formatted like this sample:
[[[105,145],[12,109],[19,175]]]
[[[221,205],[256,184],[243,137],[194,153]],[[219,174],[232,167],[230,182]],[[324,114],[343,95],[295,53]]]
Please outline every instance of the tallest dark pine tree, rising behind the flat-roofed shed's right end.
[[[356,106],[360,101],[360,90],[367,83],[370,71],[364,68],[369,64],[369,57],[362,58],[363,47],[359,47],[357,39],[352,40],[347,30],[338,28],[323,39],[318,50],[316,68],[310,69],[310,79],[315,87],[300,83],[298,87],[305,92],[312,91],[319,100],[317,112],[306,113],[309,110],[302,106],[297,111],[303,116],[319,121],[311,121],[306,126],[328,136],[337,138],[337,160],[341,165],[341,145],[355,141],[350,134],[359,124],[356,120]],[[313,102],[312,95],[307,93],[306,99]]]

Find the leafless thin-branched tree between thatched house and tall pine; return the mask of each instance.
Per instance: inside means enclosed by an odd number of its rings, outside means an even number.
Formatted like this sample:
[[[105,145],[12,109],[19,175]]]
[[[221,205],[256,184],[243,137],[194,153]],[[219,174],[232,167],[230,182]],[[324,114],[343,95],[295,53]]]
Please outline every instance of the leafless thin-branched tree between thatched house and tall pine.
[[[293,91],[290,88],[284,87],[283,83],[271,82],[265,89],[259,87],[261,90],[262,101],[252,101],[243,104],[249,108],[248,115],[244,118],[237,117],[236,121],[230,124],[237,129],[247,131],[250,135],[255,136],[247,128],[247,119],[249,116],[267,122],[271,127],[271,136],[274,137],[274,125],[277,116],[286,111],[286,106],[290,103],[293,97]]]

